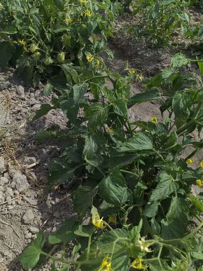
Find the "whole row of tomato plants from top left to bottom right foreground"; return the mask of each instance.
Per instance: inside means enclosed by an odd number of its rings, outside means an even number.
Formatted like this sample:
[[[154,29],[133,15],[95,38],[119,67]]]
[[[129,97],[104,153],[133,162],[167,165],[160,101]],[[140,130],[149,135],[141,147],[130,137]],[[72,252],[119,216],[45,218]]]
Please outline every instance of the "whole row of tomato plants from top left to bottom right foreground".
[[[203,187],[203,162],[196,169],[190,164],[203,148],[192,134],[200,136],[203,127],[203,83],[183,68],[196,63],[203,75],[203,61],[176,54],[170,68],[143,82],[145,92],[131,96],[140,71],[126,66],[112,72],[98,55],[120,4],[13,0],[0,7],[1,66],[16,64],[26,83],[46,80],[44,93],[59,94],[32,121],[55,109],[69,119],[68,132],[49,128],[37,139],[66,142],[49,164],[48,186],[72,184],[78,215],[49,235],[49,244],[61,244],[61,257],[47,253],[41,232],[19,256],[22,266],[34,268],[44,257],[52,259],[51,270],[64,263],[60,271],[202,271],[202,193],[194,197],[191,186]],[[163,117],[132,122],[128,109],[153,100]],[[191,230],[193,218],[199,222]]]

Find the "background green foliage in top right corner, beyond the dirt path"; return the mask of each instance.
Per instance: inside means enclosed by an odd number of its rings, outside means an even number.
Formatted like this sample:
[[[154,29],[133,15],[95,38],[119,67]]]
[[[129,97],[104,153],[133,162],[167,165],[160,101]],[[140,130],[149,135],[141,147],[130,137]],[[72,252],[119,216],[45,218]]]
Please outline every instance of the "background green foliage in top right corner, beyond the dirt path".
[[[176,42],[174,36],[182,35],[190,41],[201,41],[202,23],[190,23],[191,8],[201,8],[202,3],[190,0],[138,0],[130,1],[132,15],[139,16],[137,25],[129,33],[139,39],[145,37],[151,46],[164,46]]]

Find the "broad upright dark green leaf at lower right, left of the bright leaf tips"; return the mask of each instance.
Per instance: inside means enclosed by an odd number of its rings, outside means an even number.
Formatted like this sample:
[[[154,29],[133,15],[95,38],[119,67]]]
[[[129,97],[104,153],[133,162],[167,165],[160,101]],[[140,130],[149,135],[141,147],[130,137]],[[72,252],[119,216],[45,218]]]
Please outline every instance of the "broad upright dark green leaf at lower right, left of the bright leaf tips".
[[[175,239],[184,236],[187,228],[189,203],[184,198],[173,197],[166,220],[161,221],[161,237]]]

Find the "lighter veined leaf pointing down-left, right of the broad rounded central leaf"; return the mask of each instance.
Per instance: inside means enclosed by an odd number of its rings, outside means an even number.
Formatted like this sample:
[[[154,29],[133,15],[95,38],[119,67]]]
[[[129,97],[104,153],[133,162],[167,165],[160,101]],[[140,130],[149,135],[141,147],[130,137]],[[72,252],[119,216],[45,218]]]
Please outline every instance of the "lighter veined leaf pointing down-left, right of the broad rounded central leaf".
[[[165,199],[177,189],[173,177],[165,171],[159,173],[158,181],[158,185],[152,191],[150,202]]]

